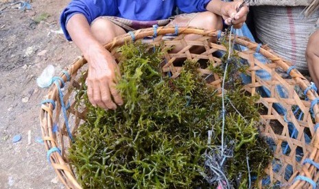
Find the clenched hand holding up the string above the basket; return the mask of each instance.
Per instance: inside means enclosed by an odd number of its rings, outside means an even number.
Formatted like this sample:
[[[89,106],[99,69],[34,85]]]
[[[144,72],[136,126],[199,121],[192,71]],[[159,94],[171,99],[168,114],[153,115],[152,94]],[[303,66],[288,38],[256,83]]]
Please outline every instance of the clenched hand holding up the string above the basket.
[[[222,4],[221,14],[226,25],[233,25],[234,28],[238,29],[244,24],[249,9],[248,5],[244,4],[237,12],[241,3],[243,1],[225,2]]]

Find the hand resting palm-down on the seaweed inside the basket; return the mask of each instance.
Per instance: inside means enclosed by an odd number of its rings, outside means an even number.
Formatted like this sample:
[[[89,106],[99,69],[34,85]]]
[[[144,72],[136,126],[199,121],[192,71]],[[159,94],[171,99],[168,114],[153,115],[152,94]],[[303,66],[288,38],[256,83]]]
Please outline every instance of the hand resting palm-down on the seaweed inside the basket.
[[[92,105],[106,110],[123,105],[115,88],[120,73],[113,56],[104,47],[93,45],[84,57],[88,60],[87,94]]]

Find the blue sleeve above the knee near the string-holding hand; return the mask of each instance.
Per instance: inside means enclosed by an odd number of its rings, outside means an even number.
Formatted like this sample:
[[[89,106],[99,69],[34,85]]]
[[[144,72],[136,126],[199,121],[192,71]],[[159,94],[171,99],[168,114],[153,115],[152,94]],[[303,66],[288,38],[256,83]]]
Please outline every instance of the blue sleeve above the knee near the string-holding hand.
[[[204,12],[209,1],[211,0],[176,0],[176,5],[185,13]]]

